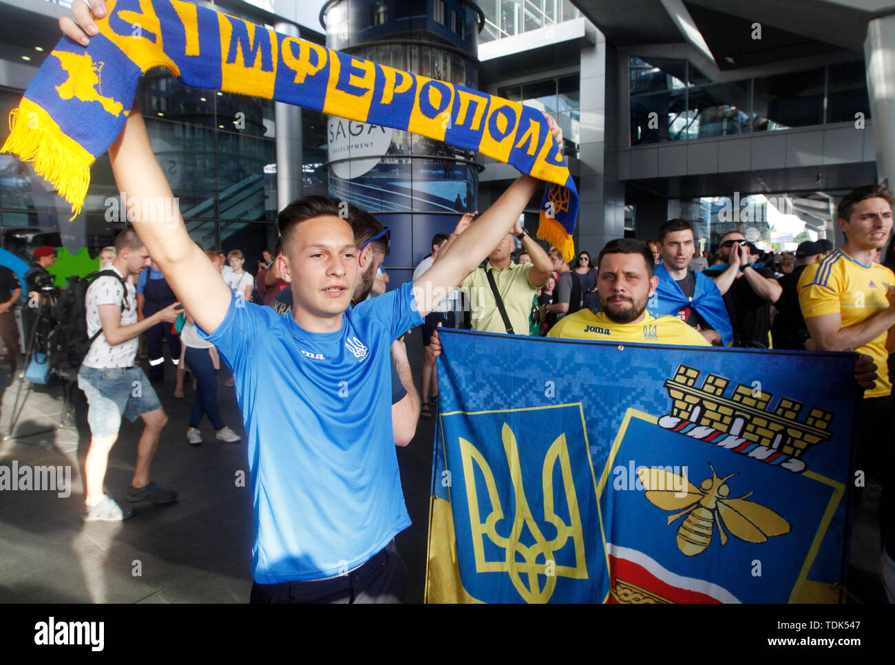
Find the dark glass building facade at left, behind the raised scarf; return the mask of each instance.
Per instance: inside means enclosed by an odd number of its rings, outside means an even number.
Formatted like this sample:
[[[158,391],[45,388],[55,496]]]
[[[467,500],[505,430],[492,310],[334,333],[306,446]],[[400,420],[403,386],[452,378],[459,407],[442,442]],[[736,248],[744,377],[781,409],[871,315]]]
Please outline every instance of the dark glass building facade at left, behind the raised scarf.
[[[0,90],[0,115],[7,116],[20,99],[21,90]],[[242,250],[247,269],[254,271],[255,257],[277,238],[273,102],[189,88],[160,69],[143,77],[137,100],[192,239],[205,249]],[[307,187],[327,177],[321,170],[326,122],[308,109],[303,109],[302,119]],[[0,141],[8,134],[8,126],[0,126]],[[0,180],[4,249],[27,258],[40,244],[60,245],[60,227],[70,224],[70,206],[30,165],[11,155],[0,155]],[[103,155],[90,169],[82,213],[90,256],[111,244],[122,227],[112,213],[115,199],[120,201],[120,194],[108,156]]]

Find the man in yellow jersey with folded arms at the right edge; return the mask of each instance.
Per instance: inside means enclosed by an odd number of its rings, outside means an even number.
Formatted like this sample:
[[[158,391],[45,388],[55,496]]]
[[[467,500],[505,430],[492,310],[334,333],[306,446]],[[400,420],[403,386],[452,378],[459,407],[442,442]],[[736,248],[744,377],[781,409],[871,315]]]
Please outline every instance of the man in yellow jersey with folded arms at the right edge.
[[[883,580],[895,602],[895,496],[889,473],[892,446],[889,354],[895,349],[895,273],[874,263],[892,230],[891,192],[878,184],[848,192],[837,224],[845,236],[840,250],[812,264],[798,280],[798,296],[811,334],[809,346],[823,351],[857,351],[873,356],[878,378],[862,400],[857,468],[882,484],[878,508]]]

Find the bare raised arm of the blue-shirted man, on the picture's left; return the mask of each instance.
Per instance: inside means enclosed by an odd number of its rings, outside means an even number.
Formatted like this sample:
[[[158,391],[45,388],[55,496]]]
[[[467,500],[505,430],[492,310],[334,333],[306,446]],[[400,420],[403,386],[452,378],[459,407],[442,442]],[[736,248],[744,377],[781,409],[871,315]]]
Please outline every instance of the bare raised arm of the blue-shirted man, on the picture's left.
[[[230,289],[187,233],[136,104],[121,135],[109,148],[109,158],[115,183],[127,194],[133,228],[149,255],[200,328],[213,331],[230,306]],[[173,218],[165,218],[172,212]]]

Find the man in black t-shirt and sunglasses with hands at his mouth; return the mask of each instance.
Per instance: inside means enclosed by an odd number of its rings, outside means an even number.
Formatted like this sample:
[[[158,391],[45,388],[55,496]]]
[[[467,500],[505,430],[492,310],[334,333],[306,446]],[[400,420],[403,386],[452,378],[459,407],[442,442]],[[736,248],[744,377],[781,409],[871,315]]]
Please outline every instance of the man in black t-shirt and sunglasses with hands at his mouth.
[[[783,289],[771,269],[756,265],[757,250],[751,253],[751,243],[738,231],[724,234],[718,252],[727,265],[721,263],[703,270],[703,275],[712,277],[724,296],[733,324],[733,345],[768,348],[771,303],[780,299]]]

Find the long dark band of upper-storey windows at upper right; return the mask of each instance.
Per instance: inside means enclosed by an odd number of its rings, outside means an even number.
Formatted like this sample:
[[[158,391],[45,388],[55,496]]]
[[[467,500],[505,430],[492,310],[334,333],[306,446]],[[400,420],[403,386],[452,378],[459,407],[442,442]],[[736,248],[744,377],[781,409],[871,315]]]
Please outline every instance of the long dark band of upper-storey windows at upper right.
[[[711,83],[685,60],[630,59],[631,145],[870,117],[864,64]]]

